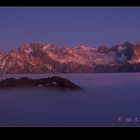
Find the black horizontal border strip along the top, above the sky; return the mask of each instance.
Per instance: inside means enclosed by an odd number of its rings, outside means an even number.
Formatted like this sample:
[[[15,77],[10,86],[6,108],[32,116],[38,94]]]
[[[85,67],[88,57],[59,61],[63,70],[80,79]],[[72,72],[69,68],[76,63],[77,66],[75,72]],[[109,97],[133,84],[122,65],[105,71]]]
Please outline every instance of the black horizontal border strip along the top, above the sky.
[[[2,0],[0,7],[140,7],[139,0]]]

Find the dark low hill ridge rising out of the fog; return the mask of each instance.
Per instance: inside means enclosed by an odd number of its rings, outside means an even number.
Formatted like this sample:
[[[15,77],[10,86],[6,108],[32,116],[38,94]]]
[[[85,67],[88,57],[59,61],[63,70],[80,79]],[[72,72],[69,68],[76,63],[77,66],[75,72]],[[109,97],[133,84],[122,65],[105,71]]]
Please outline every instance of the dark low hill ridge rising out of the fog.
[[[72,83],[70,80],[53,76],[48,78],[40,78],[40,79],[31,79],[28,77],[21,77],[19,79],[15,78],[7,78],[5,80],[0,81],[0,89],[8,88],[8,87],[56,87],[62,90],[80,90],[81,88]]]

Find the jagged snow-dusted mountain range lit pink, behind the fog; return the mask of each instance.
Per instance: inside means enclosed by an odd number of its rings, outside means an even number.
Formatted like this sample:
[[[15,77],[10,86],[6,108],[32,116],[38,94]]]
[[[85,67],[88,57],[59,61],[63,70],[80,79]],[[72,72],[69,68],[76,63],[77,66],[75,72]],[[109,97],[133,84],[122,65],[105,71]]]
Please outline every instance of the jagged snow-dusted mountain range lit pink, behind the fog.
[[[140,43],[126,41],[111,48],[80,45],[24,44],[0,52],[1,73],[93,73],[140,71]]]

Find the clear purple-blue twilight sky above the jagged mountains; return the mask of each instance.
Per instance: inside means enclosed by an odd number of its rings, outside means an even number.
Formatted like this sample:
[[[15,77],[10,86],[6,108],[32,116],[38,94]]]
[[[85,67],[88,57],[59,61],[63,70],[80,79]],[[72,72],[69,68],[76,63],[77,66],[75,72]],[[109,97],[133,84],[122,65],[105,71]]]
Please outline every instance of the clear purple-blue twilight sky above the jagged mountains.
[[[140,41],[140,7],[0,7],[0,49],[24,43],[111,47]]]

